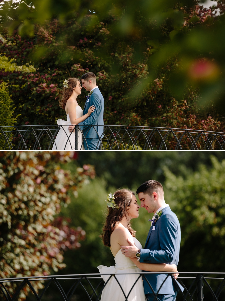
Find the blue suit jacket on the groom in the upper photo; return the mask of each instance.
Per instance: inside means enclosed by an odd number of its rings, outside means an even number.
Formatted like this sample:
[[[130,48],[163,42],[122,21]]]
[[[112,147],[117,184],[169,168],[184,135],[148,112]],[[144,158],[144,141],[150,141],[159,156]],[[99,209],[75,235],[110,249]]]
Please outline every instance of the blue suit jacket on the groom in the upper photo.
[[[91,113],[91,115],[87,119],[85,119],[81,123],[78,123],[80,129],[83,130],[85,138],[99,138],[103,133],[104,98],[99,88],[95,88],[90,98],[86,100],[86,103],[84,105],[84,114],[87,114],[88,109],[92,105],[96,107],[95,111]],[[86,126],[92,124],[96,126]]]

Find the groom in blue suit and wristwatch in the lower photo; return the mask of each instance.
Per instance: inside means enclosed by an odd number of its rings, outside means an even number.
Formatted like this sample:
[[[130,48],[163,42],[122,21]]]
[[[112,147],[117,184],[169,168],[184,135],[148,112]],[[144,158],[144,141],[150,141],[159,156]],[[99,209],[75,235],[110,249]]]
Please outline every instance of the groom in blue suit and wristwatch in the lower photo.
[[[138,187],[136,194],[148,213],[153,213],[153,222],[148,232],[144,249],[139,249],[131,241],[129,247],[121,246],[126,257],[137,257],[145,263],[168,263],[178,265],[181,243],[181,228],[177,216],[173,213],[164,200],[163,186],[149,180]],[[145,272],[145,271],[143,271]],[[146,274],[145,277],[151,284],[154,293],[157,293],[161,284],[166,279],[166,274]],[[184,288],[176,281],[173,284],[171,276],[167,278],[160,288],[158,299],[144,279],[144,293],[148,301],[174,301],[177,291]],[[155,298],[155,299],[154,299]]]

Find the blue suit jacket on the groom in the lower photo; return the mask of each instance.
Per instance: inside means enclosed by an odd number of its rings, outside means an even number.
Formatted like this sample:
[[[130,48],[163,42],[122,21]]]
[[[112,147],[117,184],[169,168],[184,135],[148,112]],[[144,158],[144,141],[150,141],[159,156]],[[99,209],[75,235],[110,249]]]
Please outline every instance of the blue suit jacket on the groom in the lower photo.
[[[144,249],[141,249],[140,262],[145,263],[168,263],[178,265],[180,243],[181,243],[181,228],[175,213],[170,207],[165,207],[162,215],[155,224],[155,230],[151,226]],[[145,271],[143,271],[145,272]],[[155,293],[159,290],[161,284],[168,274],[148,274],[145,275],[151,284]],[[144,293],[153,293],[147,281],[144,280]],[[181,291],[184,288],[176,281]],[[165,295],[175,295],[179,290],[172,283],[172,278],[169,276],[161,287],[159,293]]]

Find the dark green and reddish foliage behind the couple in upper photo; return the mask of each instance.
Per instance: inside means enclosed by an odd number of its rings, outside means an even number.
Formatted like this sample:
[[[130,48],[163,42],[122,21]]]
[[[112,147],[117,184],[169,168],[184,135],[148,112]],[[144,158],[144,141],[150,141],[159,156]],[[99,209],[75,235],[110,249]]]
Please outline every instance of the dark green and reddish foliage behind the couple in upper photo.
[[[12,35],[2,30],[0,52],[16,58],[17,65],[32,62],[36,68],[29,74],[1,73],[21,114],[21,125],[64,119],[58,105],[62,81],[91,71],[105,98],[107,124],[223,130],[224,114],[216,105],[223,103],[224,86],[223,76],[218,79],[218,49],[207,46],[208,52],[201,54],[198,50],[203,48],[198,37],[202,33],[207,37],[208,29],[211,35],[216,26],[218,33],[223,24],[214,10],[202,9],[196,1],[163,0],[160,6],[156,1],[125,1],[124,6],[115,2],[112,7],[110,1],[84,5],[68,0],[63,8],[61,1],[43,3],[35,1],[32,8],[28,2],[3,5],[2,24]],[[199,67],[195,61],[199,57],[211,72],[204,73],[209,78],[203,80],[190,71]],[[202,91],[209,104],[202,102],[199,110]],[[84,94],[78,98],[81,107]]]

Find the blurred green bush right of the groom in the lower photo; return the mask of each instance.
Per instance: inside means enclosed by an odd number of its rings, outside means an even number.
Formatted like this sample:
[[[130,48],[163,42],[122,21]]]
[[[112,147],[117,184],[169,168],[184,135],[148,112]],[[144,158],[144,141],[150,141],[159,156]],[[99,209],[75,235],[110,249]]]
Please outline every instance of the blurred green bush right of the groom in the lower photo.
[[[200,165],[185,177],[165,168],[168,198],[181,224],[180,270],[224,271],[225,160],[211,160],[211,168]]]

